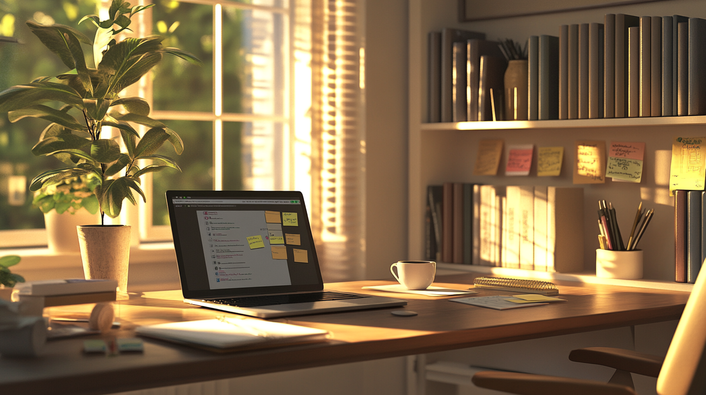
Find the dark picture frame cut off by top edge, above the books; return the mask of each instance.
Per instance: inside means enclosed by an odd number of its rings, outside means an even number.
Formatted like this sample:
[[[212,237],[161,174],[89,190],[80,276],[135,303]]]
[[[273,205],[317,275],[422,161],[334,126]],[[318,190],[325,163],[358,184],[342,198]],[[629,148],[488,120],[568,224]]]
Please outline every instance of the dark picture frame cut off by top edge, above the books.
[[[458,0],[459,22],[541,15],[665,0]]]

